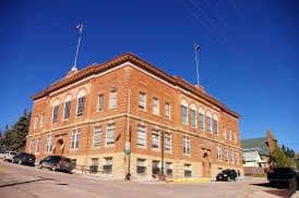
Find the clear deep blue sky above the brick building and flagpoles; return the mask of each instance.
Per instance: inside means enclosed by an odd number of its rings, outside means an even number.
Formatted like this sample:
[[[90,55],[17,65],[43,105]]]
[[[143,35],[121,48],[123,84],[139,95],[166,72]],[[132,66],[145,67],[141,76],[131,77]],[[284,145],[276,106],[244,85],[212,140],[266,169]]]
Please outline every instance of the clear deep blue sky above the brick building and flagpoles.
[[[131,51],[195,84],[242,115],[242,138],[271,127],[299,151],[299,2],[296,0],[14,1],[0,3],[0,128],[31,96],[72,67]]]

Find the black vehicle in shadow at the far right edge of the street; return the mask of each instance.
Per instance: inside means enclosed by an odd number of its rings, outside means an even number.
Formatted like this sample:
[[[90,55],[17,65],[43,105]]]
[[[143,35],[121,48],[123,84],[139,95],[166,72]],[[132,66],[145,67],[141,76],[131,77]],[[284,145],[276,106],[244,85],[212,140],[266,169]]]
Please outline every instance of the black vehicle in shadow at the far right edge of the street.
[[[267,181],[271,186],[287,186],[291,177],[297,178],[299,183],[299,173],[292,168],[274,168],[267,173]]]

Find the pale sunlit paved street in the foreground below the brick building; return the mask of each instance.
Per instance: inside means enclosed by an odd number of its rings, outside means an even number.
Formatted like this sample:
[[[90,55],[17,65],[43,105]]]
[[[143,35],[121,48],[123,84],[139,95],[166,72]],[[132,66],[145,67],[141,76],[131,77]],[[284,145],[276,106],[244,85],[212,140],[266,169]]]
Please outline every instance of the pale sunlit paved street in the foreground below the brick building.
[[[282,197],[273,195],[277,189],[266,187],[264,183],[266,183],[264,178],[202,184],[106,181],[77,173],[38,170],[0,160],[0,197],[3,198]],[[298,197],[298,193],[294,197]]]

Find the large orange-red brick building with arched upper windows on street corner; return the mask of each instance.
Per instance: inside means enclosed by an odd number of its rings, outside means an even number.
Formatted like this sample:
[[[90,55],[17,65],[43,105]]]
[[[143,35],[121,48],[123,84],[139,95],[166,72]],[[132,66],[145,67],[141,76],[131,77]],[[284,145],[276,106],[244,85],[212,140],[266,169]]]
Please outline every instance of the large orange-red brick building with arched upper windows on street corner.
[[[26,151],[37,160],[62,154],[116,177],[243,174],[239,114],[132,53],[73,70],[33,100]]]

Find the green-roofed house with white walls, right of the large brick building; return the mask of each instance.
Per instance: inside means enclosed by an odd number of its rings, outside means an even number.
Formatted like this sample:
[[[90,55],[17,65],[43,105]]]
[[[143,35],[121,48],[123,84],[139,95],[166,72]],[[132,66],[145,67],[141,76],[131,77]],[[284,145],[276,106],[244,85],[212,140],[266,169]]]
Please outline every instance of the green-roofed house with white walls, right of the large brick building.
[[[244,174],[262,174],[268,166],[270,156],[274,150],[275,137],[271,129],[265,137],[243,139],[242,156]]]

